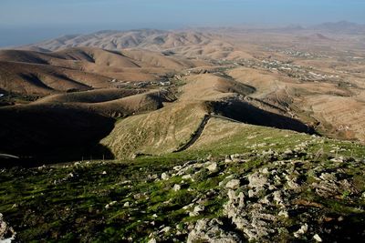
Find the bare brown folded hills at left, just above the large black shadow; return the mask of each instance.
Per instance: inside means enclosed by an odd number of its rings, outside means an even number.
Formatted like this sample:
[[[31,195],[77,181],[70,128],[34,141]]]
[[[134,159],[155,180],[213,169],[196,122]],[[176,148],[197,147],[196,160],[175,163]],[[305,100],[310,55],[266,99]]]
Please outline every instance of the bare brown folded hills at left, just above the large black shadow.
[[[57,52],[0,51],[0,88],[40,95],[89,90],[120,82],[155,81],[168,72],[207,65],[151,51],[78,47]]]

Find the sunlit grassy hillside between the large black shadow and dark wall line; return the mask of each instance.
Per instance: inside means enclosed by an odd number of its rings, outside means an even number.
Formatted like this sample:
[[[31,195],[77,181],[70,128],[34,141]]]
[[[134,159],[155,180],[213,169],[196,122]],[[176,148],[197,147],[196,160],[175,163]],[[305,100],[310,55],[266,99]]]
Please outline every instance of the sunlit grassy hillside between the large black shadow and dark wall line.
[[[101,144],[109,147],[116,157],[172,152],[189,140],[204,115],[200,103],[174,103],[149,114],[120,120]]]

